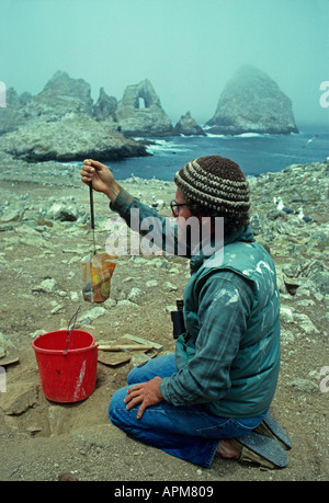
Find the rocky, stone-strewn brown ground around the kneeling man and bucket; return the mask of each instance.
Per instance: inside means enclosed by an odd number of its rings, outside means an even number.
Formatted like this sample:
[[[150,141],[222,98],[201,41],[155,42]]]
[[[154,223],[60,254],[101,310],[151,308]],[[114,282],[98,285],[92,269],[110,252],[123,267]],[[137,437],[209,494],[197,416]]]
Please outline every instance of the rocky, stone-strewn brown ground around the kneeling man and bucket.
[[[160,344],[158,354],[172,352],[170,310],[182,296],[189,263],[167,255],[121,256],[110,300],[88,304],[80,262],[92,249],[92,233],[80,169],[4,158],[0,171],[0,367],[7,385],[0,393],[0,480],[328,480],[328,162],[250,180],[251,226],[275,261],[282,296],[282,367],[272,413],[294,444],[283,470],[219,459],[203,469],[117,430],[107,405],[134,361],[115,367],[99,363],[95,391],[86,401],[59,404],[44,397],[32,341],[67,328],[79,306],[78,323],[97,342],[131,334]],[[144,202],[160,201],[160,213],[169,216],[173,184],[129,179],[123,185]],[[273,196],[295,209],[303,203],[315,221],[279,212]],[[113,214],[100,194],[94,206],[101,251]],[[3,370],[1,382],[3,390]]]

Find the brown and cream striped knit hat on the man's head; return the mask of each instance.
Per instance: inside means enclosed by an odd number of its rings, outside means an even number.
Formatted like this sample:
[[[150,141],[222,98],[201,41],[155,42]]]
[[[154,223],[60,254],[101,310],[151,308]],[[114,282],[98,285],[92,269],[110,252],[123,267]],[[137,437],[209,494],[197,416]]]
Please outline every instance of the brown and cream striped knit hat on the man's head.
[[[220,156],[188,162],[174,175],[177,186],[189,201],[232,217],[250,207],[249,185],[239,165]]]

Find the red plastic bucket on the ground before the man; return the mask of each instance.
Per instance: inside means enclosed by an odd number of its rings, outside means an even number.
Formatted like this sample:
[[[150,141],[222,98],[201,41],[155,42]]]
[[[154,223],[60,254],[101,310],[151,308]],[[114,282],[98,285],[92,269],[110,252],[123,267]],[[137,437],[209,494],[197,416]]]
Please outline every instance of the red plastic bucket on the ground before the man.
[[[89,332],[48,332],[36,338],[32,346],[43,390],[48,400],[78,402],[94,391],[98,345]]]

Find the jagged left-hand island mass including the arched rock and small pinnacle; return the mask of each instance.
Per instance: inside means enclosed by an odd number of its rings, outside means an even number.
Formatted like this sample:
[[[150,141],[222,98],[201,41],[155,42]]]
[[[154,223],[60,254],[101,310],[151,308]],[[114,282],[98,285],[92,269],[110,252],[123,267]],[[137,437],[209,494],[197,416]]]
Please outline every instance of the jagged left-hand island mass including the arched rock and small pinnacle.
[[[93,103],[88,82],[57,71],[35,96],[9,89],[0,108],[0,150],[29,162],[143,157],[146,142],[134,137],[191,133],[204,135],[190,113],[173,128],[147,79],[127,85],[120,101],[101,88]]]

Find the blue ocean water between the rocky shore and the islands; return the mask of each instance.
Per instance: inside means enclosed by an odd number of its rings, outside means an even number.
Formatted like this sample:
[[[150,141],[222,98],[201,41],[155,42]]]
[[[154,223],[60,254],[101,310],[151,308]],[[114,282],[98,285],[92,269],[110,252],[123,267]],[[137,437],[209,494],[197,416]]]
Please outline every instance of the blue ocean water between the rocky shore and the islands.
[[[315,137],[315,135],[317,135]],[[315,137],[315,138],[314,138]],[[150,138],[152,156],[124,159],[107,165],[117,180],[129,176],[172,181],[188,161],[218,155],[237,162],[246,175],[277,172],[295,163],[321,162],[329,157],[329,128],[305,128],[292,135],[179,136]],[[310,141],[308,141],[310,140]]]

